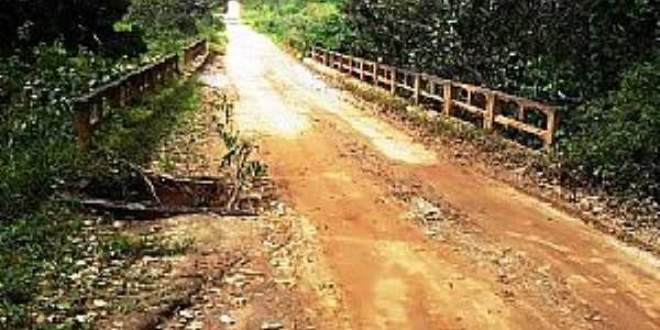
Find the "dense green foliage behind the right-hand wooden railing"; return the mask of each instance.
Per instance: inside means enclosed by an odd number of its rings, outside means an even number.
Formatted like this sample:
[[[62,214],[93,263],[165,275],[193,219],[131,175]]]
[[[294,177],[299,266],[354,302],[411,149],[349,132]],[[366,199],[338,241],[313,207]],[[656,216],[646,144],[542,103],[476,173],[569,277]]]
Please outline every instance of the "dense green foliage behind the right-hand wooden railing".
[[[553,156],[581,185],[660,197],[660,8],[649,0],[248,0],[278,41],[560,106]]]

